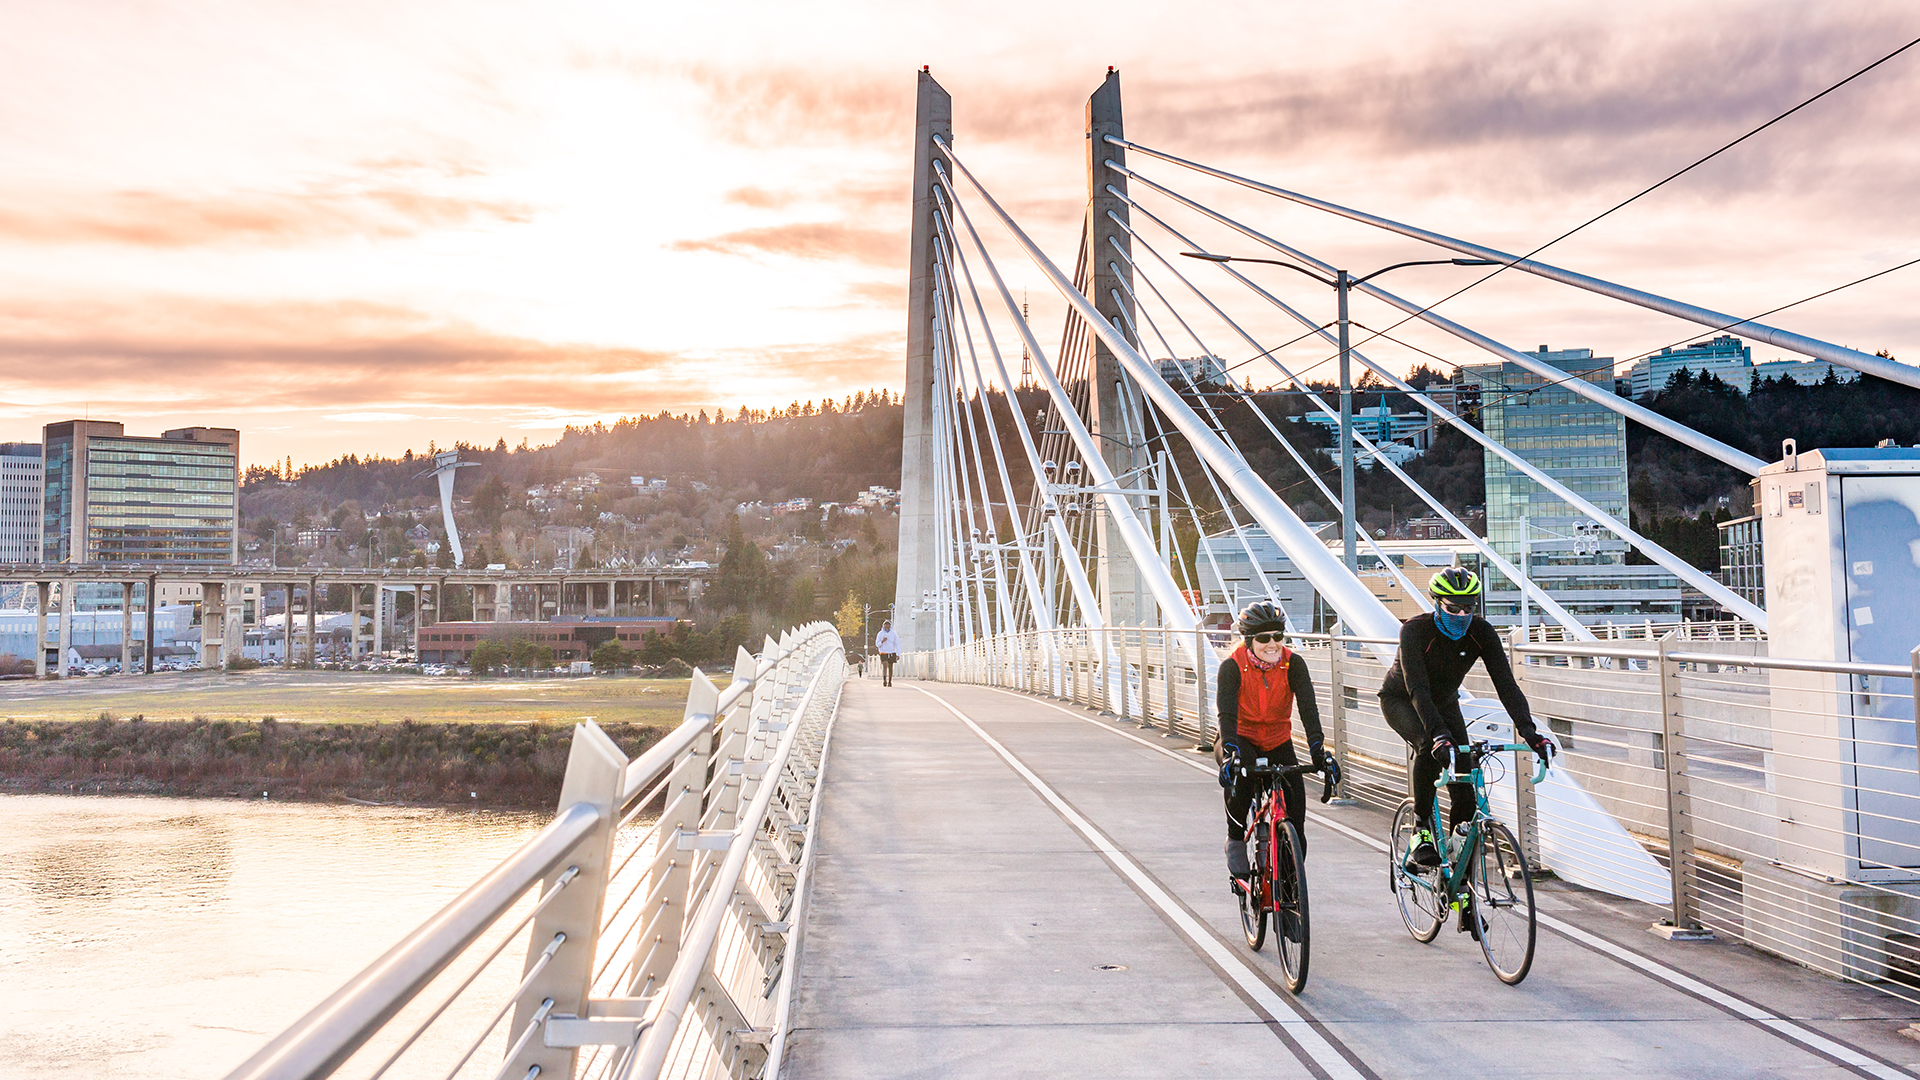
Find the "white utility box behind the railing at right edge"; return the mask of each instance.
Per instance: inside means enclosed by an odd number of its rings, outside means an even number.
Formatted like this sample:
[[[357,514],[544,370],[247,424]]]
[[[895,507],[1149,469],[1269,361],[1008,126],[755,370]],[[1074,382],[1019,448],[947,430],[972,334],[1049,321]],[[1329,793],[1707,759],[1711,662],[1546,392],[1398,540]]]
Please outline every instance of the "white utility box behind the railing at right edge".
[[[1920,448],[1791,440],[1755,479],[1776,657],[1897,665],[1920,646]],[[1770,671],[1780,861],[1862,882],[1920,880],[1914,684]]]

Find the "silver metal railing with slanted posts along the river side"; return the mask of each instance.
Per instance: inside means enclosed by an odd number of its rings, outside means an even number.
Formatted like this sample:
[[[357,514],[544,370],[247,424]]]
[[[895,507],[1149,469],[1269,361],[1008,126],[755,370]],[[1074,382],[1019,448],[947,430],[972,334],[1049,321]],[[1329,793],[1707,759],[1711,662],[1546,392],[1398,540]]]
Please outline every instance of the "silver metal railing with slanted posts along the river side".
[[[843,676],[812,623],[632,761],[578,724],[557,817],[228,1080],[774,1076]]]

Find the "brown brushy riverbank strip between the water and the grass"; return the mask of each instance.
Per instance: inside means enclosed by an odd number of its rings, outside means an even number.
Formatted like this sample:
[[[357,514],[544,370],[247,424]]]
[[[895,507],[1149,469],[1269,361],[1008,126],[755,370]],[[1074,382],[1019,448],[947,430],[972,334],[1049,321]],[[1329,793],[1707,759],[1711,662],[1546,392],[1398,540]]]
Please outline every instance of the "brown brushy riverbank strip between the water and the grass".
[[[678,717],[676,717],[678,719]],[[601,723],[630,757],[664,726]],[[551,811],[570,723],[0,721],[0,792]]]

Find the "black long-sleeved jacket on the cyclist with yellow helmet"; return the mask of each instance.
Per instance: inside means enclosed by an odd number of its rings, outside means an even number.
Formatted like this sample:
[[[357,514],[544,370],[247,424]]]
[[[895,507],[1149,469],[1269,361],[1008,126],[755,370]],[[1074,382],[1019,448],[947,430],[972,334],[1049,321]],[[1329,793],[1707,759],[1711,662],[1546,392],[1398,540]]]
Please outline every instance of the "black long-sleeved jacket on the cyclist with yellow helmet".
[[[1467,746],[1467,721],[1459,715],[1459,684],[1473,669],[1473,661],[1486,665],[1494,692],[1513,721],[1513,732],[1521,742],[1534,738],[1534,715],[1526,709],[1526,696],[1513,680],[1513,667],[1507,665],[1507,648],[1500,640],[1500,630],[1492,623],[1473,617],[1467,636],[1448,638],[1434,625],[1432,613],[1415,615],[1400,626],[1400,655],[1394,667],[1386,669],[1380,684],[1380,698],[1404,698],[1413,703],[1421,723],[1427,726],[1425,738],[1432,742],[1440,732],[1455,746]],[[1400,732],[1402,738],[1407,732]]]

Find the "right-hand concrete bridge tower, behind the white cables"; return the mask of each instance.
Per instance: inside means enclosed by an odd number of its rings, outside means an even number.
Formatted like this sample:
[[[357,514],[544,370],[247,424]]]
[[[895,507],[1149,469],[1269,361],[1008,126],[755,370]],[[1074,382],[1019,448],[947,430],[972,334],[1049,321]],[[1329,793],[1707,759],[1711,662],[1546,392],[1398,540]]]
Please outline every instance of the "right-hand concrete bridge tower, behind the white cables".
[[[1125,136],[1119,117],[1119,71],[1106,71],[1106,83],[1087,98],[1087,275],[1091,288],[1087,298],[1100,309],[1100,317],[1127,325],[1133,319],[1133,304],[1127,294],[1133,288],[1133,269],[1127,259],[1114,250],[1133,254],[1133,242],[1121,223],[1127,221],[1127,204],[1106,188],[1127,192],[1127,179],[1106,163],[1127,163],[1127,154],[1104,138]],[[1114,221],[1119,217],[1119,221]],[[1116,298],[1116,292],[1119,294]],[[1125,319],[1121,317],[1125,313]],[[1087,384],[1087,429],[1100,444],[1108,469],[1121,477],[1121,486],[1139,488],[1144,477],[1127,473],[1146,465],[1146,436],[1139,430],[1140,392],[1133,379],[1119,365],[1106,342],[1089,331],[1092,338],[1092,379]],[[1139,498],[1127,496],[1139,509]],[[1094,500],[1098,507],[1092,519],[1094,555],[1098,580],[1094,592],[1106,605],[1108,626],[1140,626],[1156,623],[1152,596],[1140,582],[1140,571],[1133,565],[1133,553],[1119,538],[1112,515],[1104,509],[1104,500]]]

